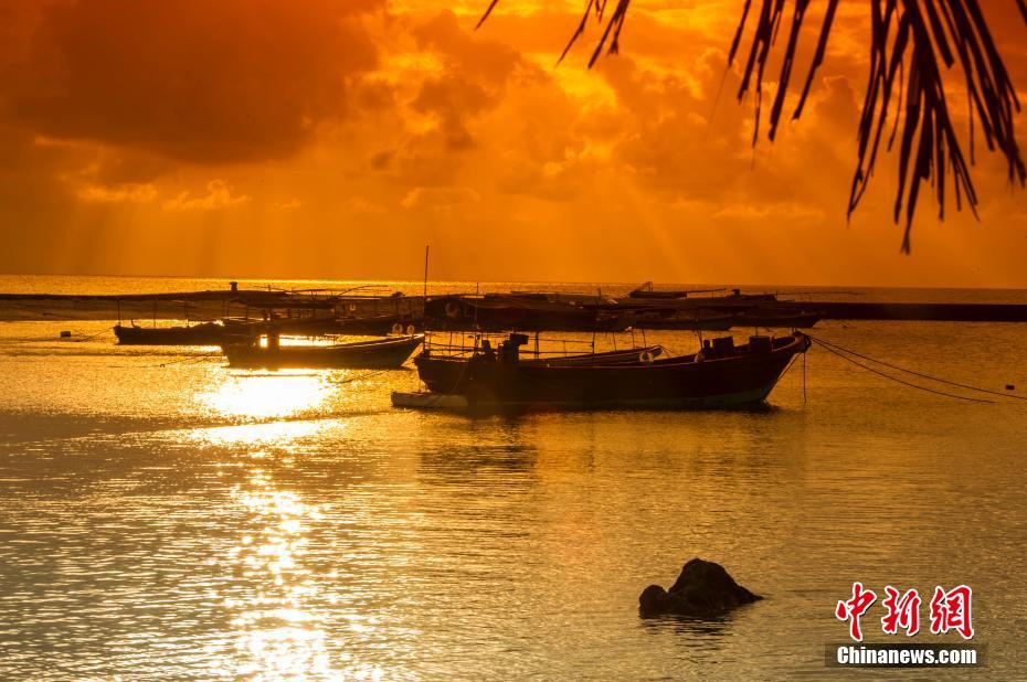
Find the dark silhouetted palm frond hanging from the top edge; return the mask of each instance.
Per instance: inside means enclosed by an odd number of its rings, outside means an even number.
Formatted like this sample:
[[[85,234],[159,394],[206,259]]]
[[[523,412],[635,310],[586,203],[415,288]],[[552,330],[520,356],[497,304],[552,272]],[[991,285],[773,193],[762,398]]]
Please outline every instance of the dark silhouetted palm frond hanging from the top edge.
[[[481,22],[499,0],[490,0]],[[989,0],[992,1],[992,0]],[[997,0],[995,0],[997,1]],[[1027,22],[1027,0],[1013,0]],[[616,54],[621,31],[631,0],[616,0],[613,12],[605,14],[607,0],[587,0],[576,30],[568,41],[562,61],[582,36],[589,21],[601,28],[601,36],[589,60],[595,64],[605,51]],[[910,251],[910,231],[920,190],[924,183],[933,188],[939,219],[945,215],[945,192],[951,174],[956,209],[965,201],[976,215],[977,193],[970,173],[974,162],[974,130],[981,127],[988,150],[1005,157],[1009,182],[1021,187],[1027,182],[1027,169],[1020,154],[1014,128],[1014,115],[1020,105],[1009,74],[995,45],[991,29],[981,11],[980,0],[867,0],[870,7],[870,68],[867,89],[857,129],[857,163],[849,192],[847,214],[859,205],[874,175],[881,139],[891,120],[886,149],[898,140],[898,188],[893,219],[903,219],[906,230],[902,251]],[[816,50],[807,67],[805,83],[792,119],[802,116],[818,68],[824,62],[832,26],[840,0],[822,0],[824,19],[819,26]],[[756,115],[753,145],[760,134],[764,72],[774,53],[782,25],[787,40],[781,60],[781,72],[774,100],[767,116],[767,137],[773,141],[784,114],[785,99],[792,87],[795,57],[812,0],[744,0],[738,30],[728,52],[728,63],[734,64],[747,34],[751,43],[742,66],[738,98],[753,95]],[[786,14],[791,6],[791,21]],[[970,158],[964,157],[950,115],[945,74],[953,67],[962,73],[970,111]]]

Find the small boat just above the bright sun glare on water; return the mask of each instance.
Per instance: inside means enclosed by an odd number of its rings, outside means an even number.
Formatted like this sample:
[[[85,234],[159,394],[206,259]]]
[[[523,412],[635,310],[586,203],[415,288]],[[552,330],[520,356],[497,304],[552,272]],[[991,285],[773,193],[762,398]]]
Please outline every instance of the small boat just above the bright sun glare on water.
[[[227,343],[222,350],[233,367],[399,367],[423,341],[424,334],[412,334],[332,345]]]

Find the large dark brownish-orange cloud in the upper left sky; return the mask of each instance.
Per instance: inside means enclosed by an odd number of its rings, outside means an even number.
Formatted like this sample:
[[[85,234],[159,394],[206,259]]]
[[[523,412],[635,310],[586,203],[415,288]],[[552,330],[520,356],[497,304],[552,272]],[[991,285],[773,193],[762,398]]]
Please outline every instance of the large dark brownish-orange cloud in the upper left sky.
[[[287,157],[374,67],[358,13],[382,0],[50,4],[0,64],[8,115],[39,135],[191,162]],[[3,50],[3,47],[0,47]]]

